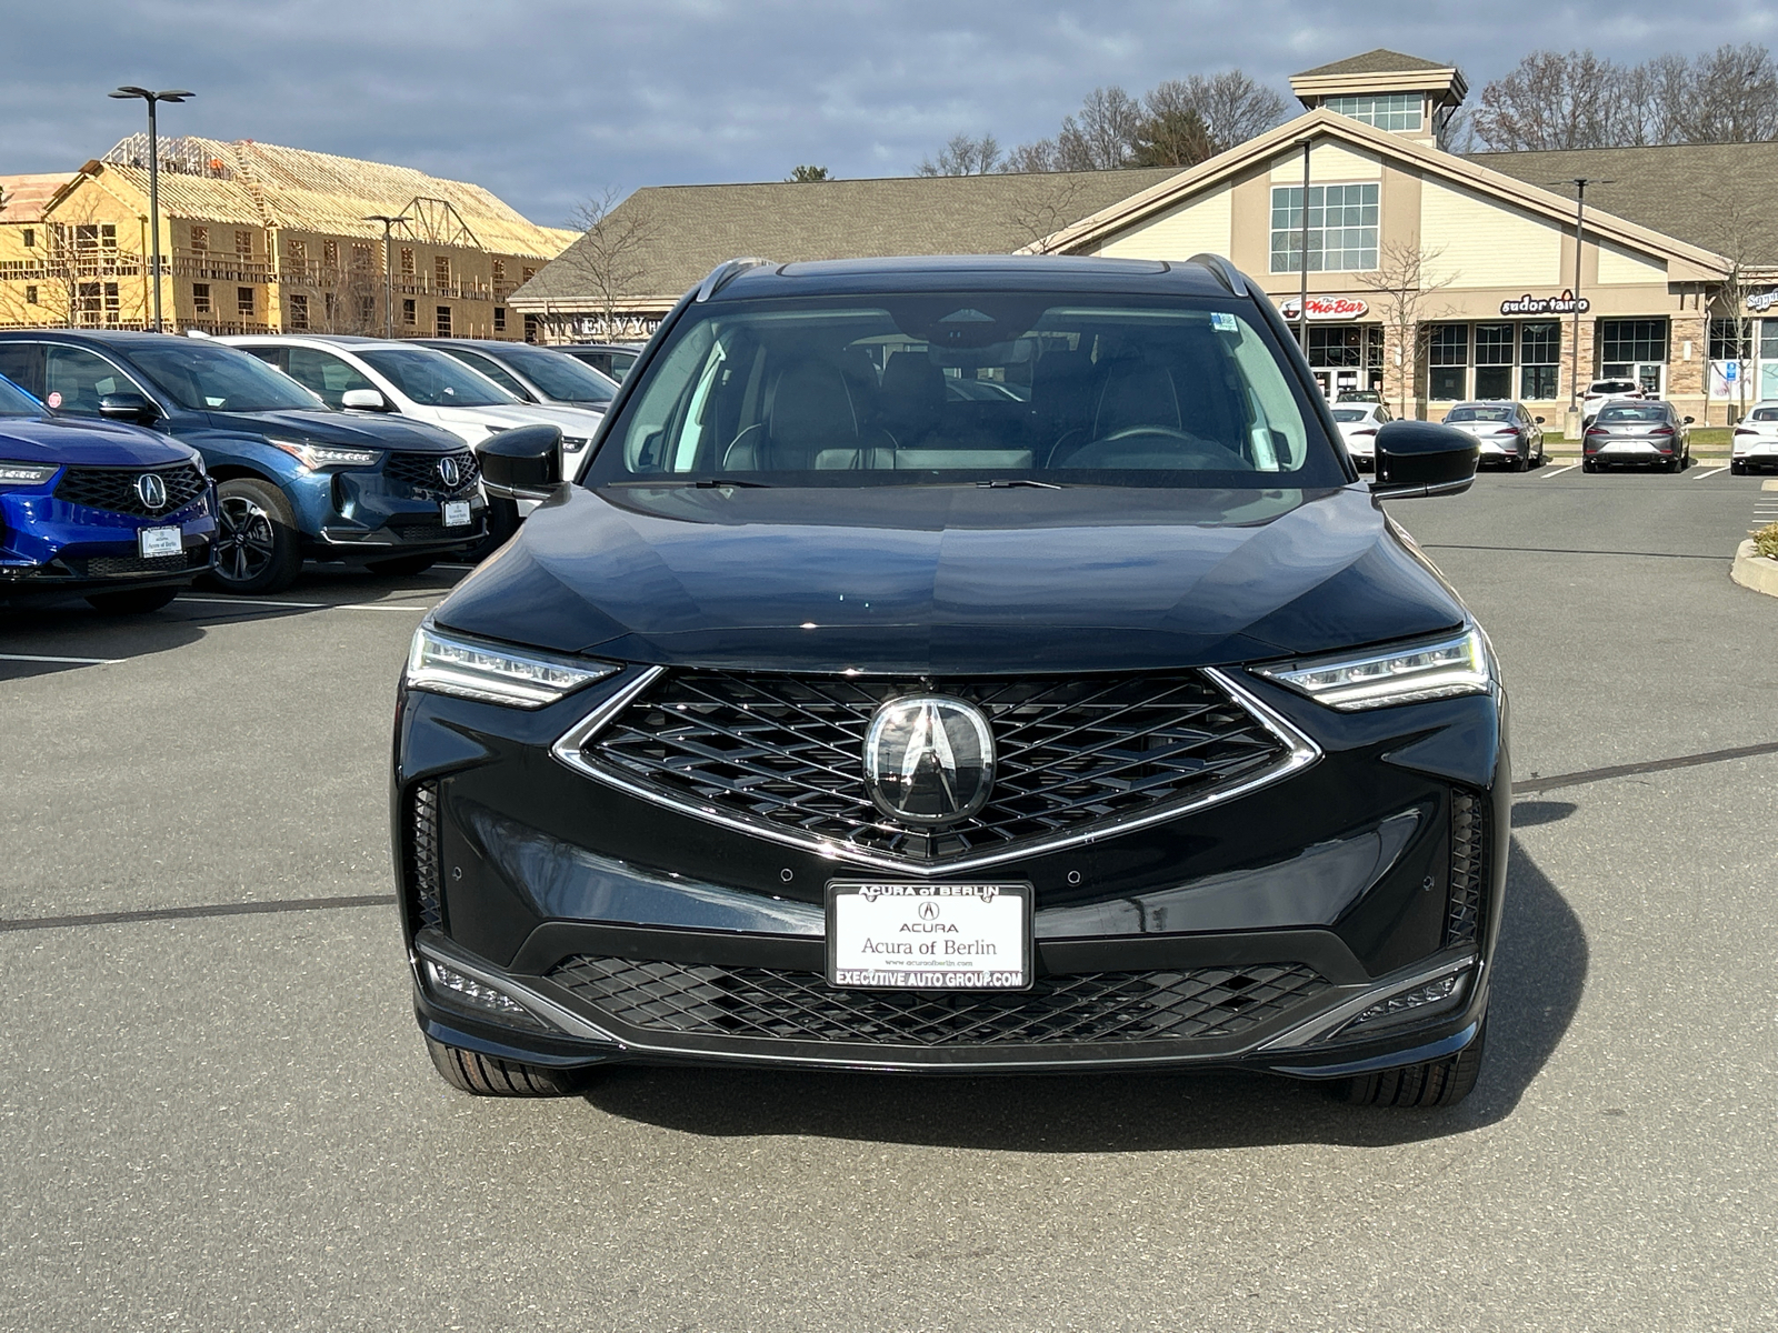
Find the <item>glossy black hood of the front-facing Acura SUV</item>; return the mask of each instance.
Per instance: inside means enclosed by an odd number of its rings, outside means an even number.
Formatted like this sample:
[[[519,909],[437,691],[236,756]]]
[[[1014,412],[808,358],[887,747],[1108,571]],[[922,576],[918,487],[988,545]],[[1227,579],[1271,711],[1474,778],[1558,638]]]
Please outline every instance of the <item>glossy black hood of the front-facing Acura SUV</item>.
[[[967,674],[1321,652],[1463,606],[1360,487],[562,487],[436,619],[622,661]]]

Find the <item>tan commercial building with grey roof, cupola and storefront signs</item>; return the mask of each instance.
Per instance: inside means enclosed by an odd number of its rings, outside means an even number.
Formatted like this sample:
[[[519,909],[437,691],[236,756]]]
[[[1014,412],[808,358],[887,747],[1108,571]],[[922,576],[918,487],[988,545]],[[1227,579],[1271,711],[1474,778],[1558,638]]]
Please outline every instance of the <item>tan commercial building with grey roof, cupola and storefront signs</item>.
[[[644,219],[649,243],[615,332],[653,327],[733,254],[1209,251],[1294,316],[1307,249],[1307,354],[1328,395],[1378,389],[1415,416],[1520,398],[1556,427],[1595,377],[1700,421],[1778,398],[1778,318],[1760,318],[1778,306],[1778,144],[1465,156],[1444,148],[1467,94],[1453,66],[1380,50],[1291,85],[1301,116],[1186,171],[638,190],[617,215]],[[1593,181],[1579,272],[1577,176]],[[514,295],[546,336],[601,325],[583,245]]]

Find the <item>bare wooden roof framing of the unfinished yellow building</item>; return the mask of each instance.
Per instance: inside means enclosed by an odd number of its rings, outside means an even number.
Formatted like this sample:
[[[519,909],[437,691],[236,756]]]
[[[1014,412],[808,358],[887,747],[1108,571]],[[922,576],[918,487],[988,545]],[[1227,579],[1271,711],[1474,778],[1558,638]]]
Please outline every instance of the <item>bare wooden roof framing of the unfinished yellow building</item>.
[[[128,151],[130,142],[112,149],[108,160],[89,164],[87,174],[110,176],[146,201],[148,167]],[[480,249],[496,254],[549,259],[573,238],[569,231],[530,222],[480,185],[428,176],[412,167],[251,139],[187,137],[178,140],[178,148],[180,160],[190,169],[160,172],[160,208],[167,217],[380,240],[382,224],[366,222],[366,215],[396,215],[414,199],[443,199]]]

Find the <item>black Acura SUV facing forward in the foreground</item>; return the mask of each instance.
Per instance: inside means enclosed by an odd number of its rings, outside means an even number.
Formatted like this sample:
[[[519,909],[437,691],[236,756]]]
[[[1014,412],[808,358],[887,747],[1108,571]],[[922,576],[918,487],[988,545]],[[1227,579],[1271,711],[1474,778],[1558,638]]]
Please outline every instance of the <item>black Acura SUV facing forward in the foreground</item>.
[[[717,268],[418,631],[393,825],[439,1074],[617,1061],[1476,1082],[1486,636],[1225,259]]]

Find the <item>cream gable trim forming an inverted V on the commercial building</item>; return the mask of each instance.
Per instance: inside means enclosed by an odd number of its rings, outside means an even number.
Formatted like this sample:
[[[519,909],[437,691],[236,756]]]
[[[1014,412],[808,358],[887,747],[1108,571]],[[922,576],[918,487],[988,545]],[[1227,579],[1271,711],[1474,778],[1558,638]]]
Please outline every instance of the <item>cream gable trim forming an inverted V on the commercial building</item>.
[[[1504,204],[1534,213],[1561,226],[1574,222],[1574,199],[1563,197],[1549,188],[1529,185],[1526,180],[1510,176],[1504,171],[1428,148],[1403,135],[1376,130],[1350,116],[1339,116],[1326,108],[1317,108],[1287,121],[1275,130],[1268,130],[1255,139],[1239,144],[1227,153],[1200,162],[1161,181],[1140,194],[1099,210],[1061,231],[1045,236],[1029,249],[1038,254],[1085,252],[1109,236],[1141,222],[1154,213],[1182,204],[1191,196],[1241,174],[1262,162],[1269,162],[1280,153],[1298,148],[1303,140],[1339,140],[1358,151],[1373,153],[1380,158],[1417,171],[1424,178],[1440,180],[1476,194],[1494,196]],[[1513,155],[1518,156],[1518,155]],[[1554,176],[1550,180],[1556,180]],[[1632,222],[1606,212],[1586,212],[1588,233],[1606,236],[1620,245],[1627,245],[1646,254],[1677,259],[1703,272],[1721,272],[1728,261],[1691,240],[1657,231],[1650,226]]]

